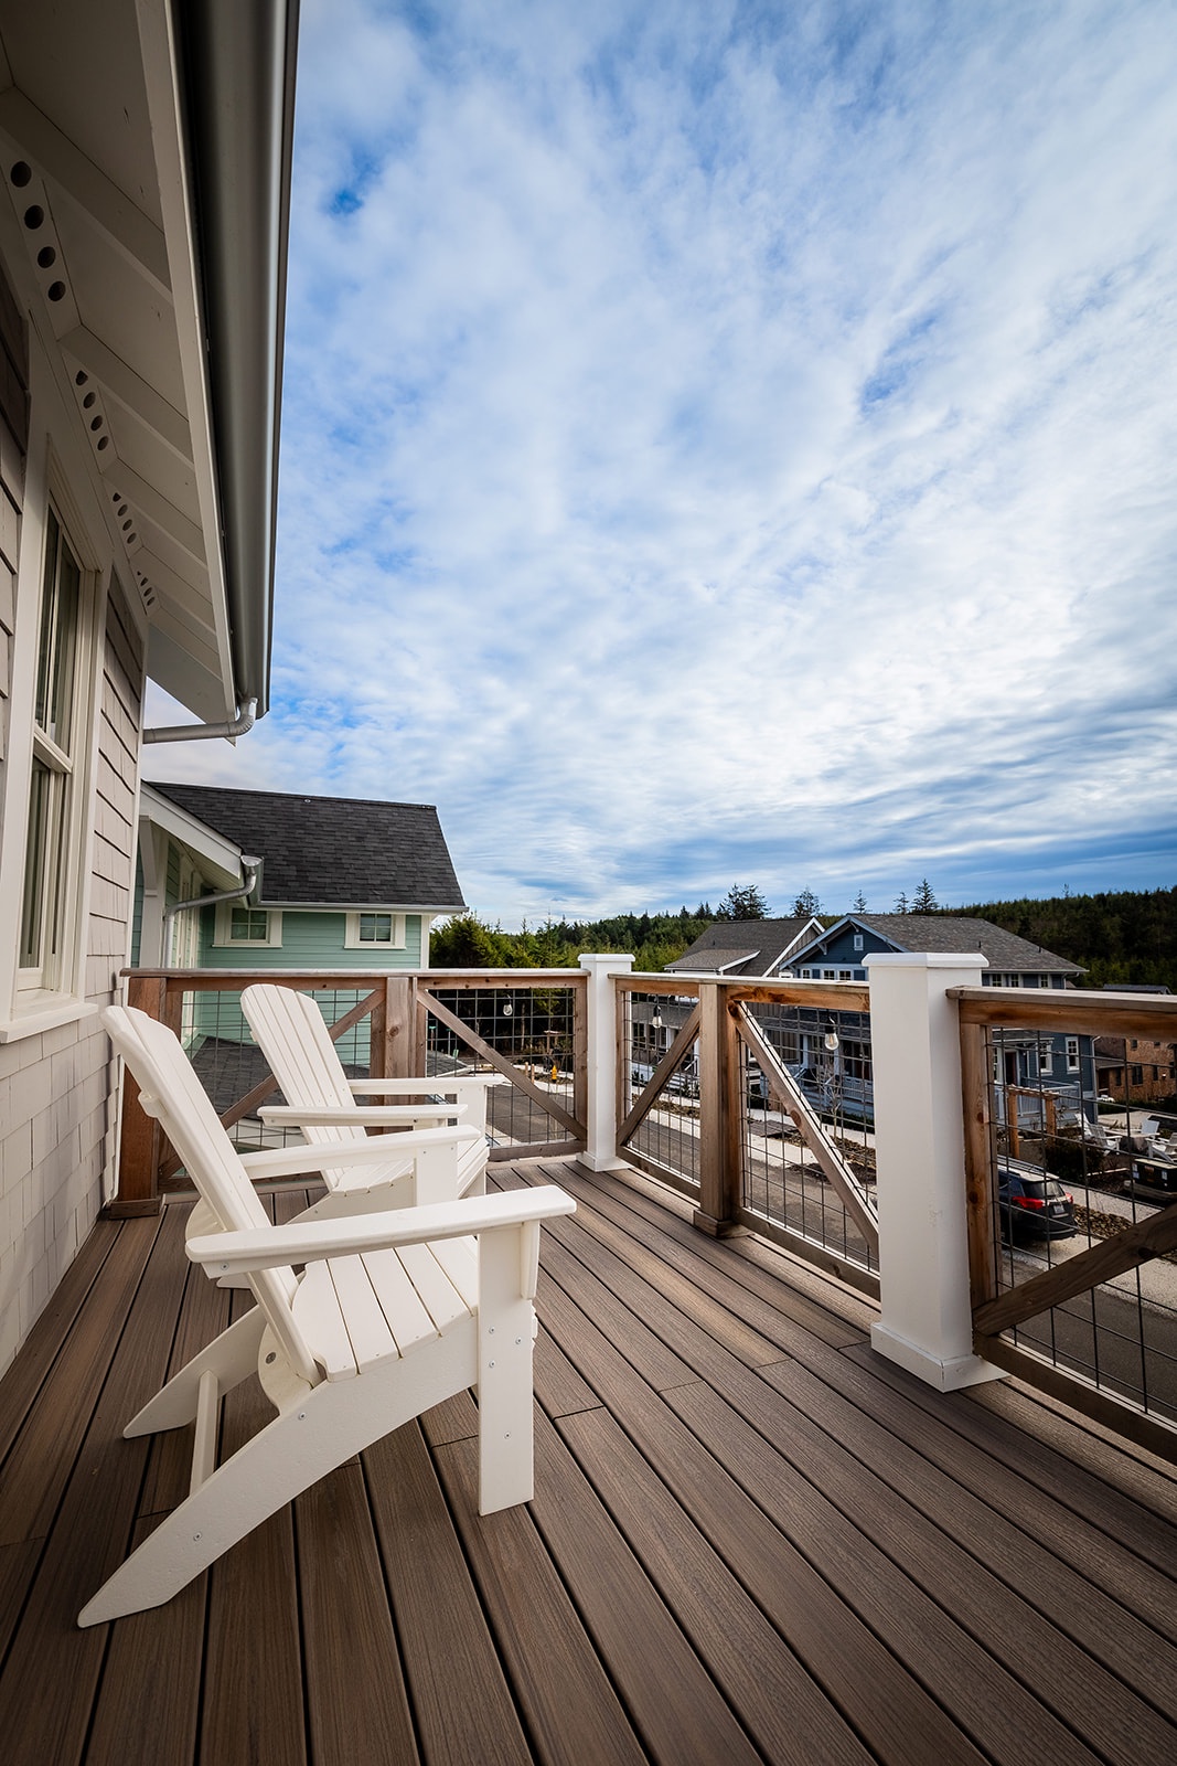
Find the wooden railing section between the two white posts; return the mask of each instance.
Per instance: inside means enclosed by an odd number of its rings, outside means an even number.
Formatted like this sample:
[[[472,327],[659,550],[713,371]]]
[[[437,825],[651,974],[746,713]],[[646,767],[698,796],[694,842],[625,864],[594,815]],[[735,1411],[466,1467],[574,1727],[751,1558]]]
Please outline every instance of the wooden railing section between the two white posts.
[[[785,1008],[796,1008],[791,1035],[821,1040],[831,1023],[843,1026],[849,1014],[865,1019],[868,989],[856,982],[669,975],[619,975],[614,989],[618,1153],[692,1196],[701,1231],[722,1236],[750,1226],[877,1291],[872,1266],[877,1270],[879,1222],[863,1180],[872,1157],[868,1123],[859,1125],[858,1146],[852,1146],[845,1125],[840,1132],[828,1113],[822,1120],[819,1100],[806,1093],[780,1047]],[[658,1003],[667,1047],[658,1044],[651,1051],[658,1054],[653,1072],[635,1083],[635,1070],[641,1074],[651,1063],[635,1061],[642,1044],[635,1044],[633,1026],[649,1023],[651,1001]],[[667,1012],[676,1001],[678,1023],[665,1023],[663,1001]],[[690,1084],[681,1079],[685,1063]],[[755,1075],[766,1109],[787,1120],[775,1160],[750,1132],[750,1075]],[[656,1116],[662,1118],[658,1144],[642,1144],[642,1128]],[[787,1146],[803,1150],[799,1162],[783,1157]],[[824,1185],[836,1201],[819,1194]],[[851,1240],[858,1256],[849,1249]]]

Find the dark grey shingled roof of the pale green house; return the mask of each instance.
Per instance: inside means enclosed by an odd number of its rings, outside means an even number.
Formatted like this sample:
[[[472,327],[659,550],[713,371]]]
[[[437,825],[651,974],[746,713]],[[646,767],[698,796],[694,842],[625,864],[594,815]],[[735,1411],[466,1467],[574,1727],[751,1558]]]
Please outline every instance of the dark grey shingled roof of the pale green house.
[[[466,902],[432,804],[152,784],[261,857],[270,908],[397,908],[457,913]]]

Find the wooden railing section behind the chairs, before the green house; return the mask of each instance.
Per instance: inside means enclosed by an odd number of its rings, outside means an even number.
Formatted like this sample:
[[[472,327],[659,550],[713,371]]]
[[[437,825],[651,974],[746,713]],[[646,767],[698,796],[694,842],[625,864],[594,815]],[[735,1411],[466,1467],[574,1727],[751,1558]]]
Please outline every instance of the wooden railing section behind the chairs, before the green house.
[[[491,1158],[563,1157],[579,1153],[586,1136],[586,987],[579,970],[420,970],[394,973],[326,971],[247,971],[247,970],[127,970],[127,1003],[161,1019],[176,1035],[198,1044],[192,1023],[199,1014],[191,1001],[210,994],[229,996],[254,982],[298,987],[316,994],[344,994],[355,1003],[339,1010],[328,1024],[332,1040],[342,1042],[367,1026],[364,1068],[372,1079],[438,1077],[432,1051],[441,1033],[446,1044],[461,1047],[466,1060],[492,1068],[510,1084],[510,1097],[526,1104],[526,1125],[545,1130],[521,1137],[505,1123],[506,1113],[491,1109]],[[441,998],[448,996],[448,998]],[[491,998],[489,1012],[478,1010]],[[187,1005],[185,1005],[187,1001]],[[471,1008],[462,1012],[462,1003]],[[538,1008],[536,1008],[538,1001]],[[187,1023],[185,1023],[187,1012]],[[240,1014],[229,1017],[235,1037],[247,1040]],[[536,1023],[547,1028],[531,1035]],[[554,1083],[540,1077],[552,1068]],[[236,1128],[259,1104],[272,1098],[277,1081],[263,1072],[244,1095],[221,1109],[226,1128]],[[492,1098],[496,1095],[492,1093]],[[498,1136],[496,1136],[496,1114]],[[556,1130],[556,1132],[552,1132]],[[154,1213],[159,1197],[180,1171],[164,1143],[159,1125],[139,1107],[138,1086],[125,1077],[122,1102],[122,1137],[118,1196],[109,1203],[113,1215]]]

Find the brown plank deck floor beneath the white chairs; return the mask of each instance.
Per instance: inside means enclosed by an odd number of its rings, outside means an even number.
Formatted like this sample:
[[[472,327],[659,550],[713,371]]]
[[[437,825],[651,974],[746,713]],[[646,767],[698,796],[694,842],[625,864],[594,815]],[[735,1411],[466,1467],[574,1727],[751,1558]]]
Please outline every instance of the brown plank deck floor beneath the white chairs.
[[[932,1393],[861,1298],[644,1178],[494,1174],[579,1204],[544,1238],[535,1501],[478,1519],[462,1395],[79,1632],[187,1478],[184,1438],[120,1427],[229,1305],[182,1208],[99,1226],[0,1386],[9,1766],[1177,1757],[1159,1466],[1013,1385]]]

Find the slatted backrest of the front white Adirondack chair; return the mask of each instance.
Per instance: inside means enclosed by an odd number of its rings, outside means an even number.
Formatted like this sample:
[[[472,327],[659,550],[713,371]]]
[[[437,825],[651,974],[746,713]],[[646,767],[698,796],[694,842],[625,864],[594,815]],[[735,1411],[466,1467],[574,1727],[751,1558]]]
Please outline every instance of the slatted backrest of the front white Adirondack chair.
[[[226,1233],[274,1226],[212,1107],[178,1038],[136,1007],[111,1005],[102,1012],[111,1042],[134,1074],[148,1116],[175,1146],[184,1169]],[[293,1319],[298,1279],[289,1268],[258,1270],[249,1277],[258,1305],[293,1367],[304,1379],[323,1376]]]

